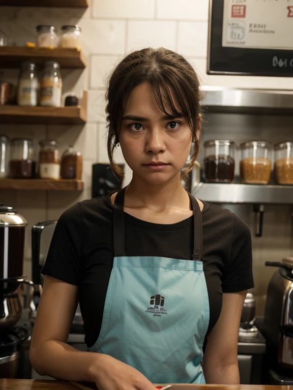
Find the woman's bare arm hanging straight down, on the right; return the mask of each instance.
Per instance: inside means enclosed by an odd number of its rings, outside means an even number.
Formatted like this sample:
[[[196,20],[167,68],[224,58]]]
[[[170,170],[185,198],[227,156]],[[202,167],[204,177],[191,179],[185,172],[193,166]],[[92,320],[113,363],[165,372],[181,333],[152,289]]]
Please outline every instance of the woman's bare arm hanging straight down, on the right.
[[[224,293],[220,317],[208,336],[202,369],[206,383],[239,384],[238,334],[247,290]]]

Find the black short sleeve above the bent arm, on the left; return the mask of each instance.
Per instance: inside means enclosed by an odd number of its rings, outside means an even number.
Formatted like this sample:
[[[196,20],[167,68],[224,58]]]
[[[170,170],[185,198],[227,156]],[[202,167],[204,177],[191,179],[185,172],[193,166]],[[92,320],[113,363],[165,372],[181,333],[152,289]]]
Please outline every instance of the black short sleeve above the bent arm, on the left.
[[[81,274],[82,218],[78,204],[58,219],[50,243],[43,275],[78,285]]]

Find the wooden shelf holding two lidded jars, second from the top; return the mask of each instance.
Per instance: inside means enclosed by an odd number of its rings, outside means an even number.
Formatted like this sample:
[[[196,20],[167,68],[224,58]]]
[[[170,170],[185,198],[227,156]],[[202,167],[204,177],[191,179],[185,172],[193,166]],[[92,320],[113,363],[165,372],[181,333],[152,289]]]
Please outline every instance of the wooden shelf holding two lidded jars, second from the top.
[[[1,1],[1,0],[0,0]],[[0,67],[20,68],[22,61],[32,61],[43,64],[44,61],[54,60],[61,68],[86,67],[86,56],[77,49],[26,46],[2,46],[0,47]]]

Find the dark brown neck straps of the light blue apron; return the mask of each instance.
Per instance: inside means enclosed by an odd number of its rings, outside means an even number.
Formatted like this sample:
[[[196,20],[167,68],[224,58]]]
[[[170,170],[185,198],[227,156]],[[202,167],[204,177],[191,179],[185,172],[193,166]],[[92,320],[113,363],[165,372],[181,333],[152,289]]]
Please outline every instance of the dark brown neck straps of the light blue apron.
[[[120,190],[115,198],[113,211],[114,257],[125,256],[124,239],[124,195],[126,187]],[[187,192],[193,209],[193,255],[192,260],[202,261],[202,218],[197,200]]]

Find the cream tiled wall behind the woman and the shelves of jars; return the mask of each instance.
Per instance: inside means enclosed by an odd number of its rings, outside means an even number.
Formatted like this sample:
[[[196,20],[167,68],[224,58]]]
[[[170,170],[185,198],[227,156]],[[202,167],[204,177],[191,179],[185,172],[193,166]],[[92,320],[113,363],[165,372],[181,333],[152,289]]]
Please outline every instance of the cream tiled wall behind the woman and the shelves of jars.
[[[105,80],[113,66],[126,53],[143,47],[164,46],[187,57],[204,85],[275,88],[293,90],[293,78],[207,75],[207,37],[209,0],[92,0],[87,10],[68,8],[1,7],[0,26],[10,44],[35,42],[35,26],[54,25],[57,32],[63,24],[78,24],[82,28],[83,51],[88,56],[86,70],[62,70],[63,98],[73,92],[81,97],[89,89],[85,126],[24,126],[2,125],[0,133],[10,137],[33,137],[37,156],[38,140],[55,138],[61,153],[69,144],[84,157],[83,192],[70,191],[2,191],[1,201],[16,207],[28,220],[25,269],[30,272],[30,230],[34,223],[58,218],[78,201],[91,198],[92,164],[107,163]],[[4,70],[4,79],[17,83],[17,70]],[[203,140],[227,137],[238,144],[250,139],[279,142],[291,138],[290,120],[284,117],[233,114],[208,115]],[[202,155],[202,150],[201,150]],[[115,159],[123,163],[120,148]],[[238,168],[237,168],[238,170]],[[132,172],[126,167],[124,184]],[[254,232],[251,206],[223,205],[239,214]],[[290,253],[289,206],[266,207],[263,237],[253,236],[253,261],[258,314],[263,312],[268,280],[273,272],[264,267],[267,259],[280,259]],[[277,226],[277,228],[276,228]]]

